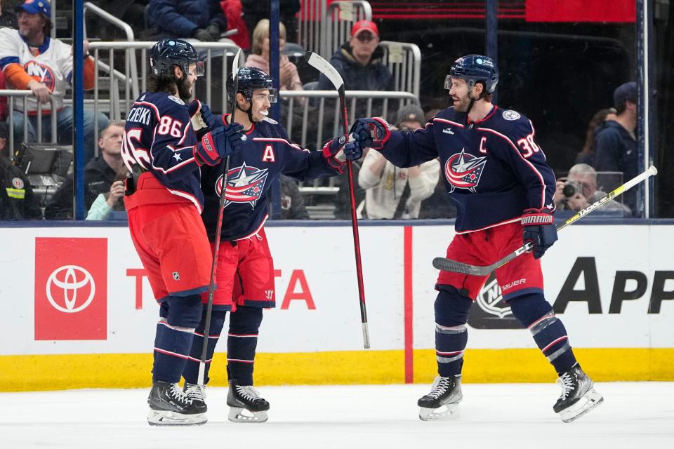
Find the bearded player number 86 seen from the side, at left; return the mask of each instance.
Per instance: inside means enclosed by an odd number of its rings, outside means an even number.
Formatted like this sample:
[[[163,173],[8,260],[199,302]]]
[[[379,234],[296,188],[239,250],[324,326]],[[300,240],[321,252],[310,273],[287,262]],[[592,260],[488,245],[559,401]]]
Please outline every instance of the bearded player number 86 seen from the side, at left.
[[[201,221],[200,168],[216,165],[241,147],[241,127],[213,128],[200,140],[192,129],[199,102],[187,107],[203,65],[190,43],[159,41],[150,51],[152,74],[126,117],[122,158],[124,203],[133,245],[159,302],[154,338],[152,425],[204,424],[206,407],[180,387],[194,328],[201,320],[201,293],[208,290],[211,247]]]

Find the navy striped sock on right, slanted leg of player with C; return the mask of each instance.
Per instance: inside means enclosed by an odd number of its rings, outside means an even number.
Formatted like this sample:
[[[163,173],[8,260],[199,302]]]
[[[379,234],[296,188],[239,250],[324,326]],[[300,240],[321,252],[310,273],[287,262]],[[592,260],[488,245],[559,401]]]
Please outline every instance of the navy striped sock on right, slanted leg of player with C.
[[[569,344],[567,330],[541,293],[530,293],[508,301],[510,310],[522,326],[531,331],[534,341],[557,371],[562,375],[576,363]]]

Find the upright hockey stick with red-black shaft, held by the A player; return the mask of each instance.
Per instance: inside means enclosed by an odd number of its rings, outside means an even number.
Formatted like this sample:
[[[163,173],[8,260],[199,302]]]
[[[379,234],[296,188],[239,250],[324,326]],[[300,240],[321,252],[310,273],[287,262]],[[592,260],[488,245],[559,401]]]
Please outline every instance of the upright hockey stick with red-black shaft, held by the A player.
[[[344,93],[344,80],[335,67],[332,67],[329,62],[321,58],[316,53],[308,51],[305,53],[305,59],[310,66],[317,69],[324,74],[333,83],[339,95],[339,105],[342,109],[342,121],[344,124],[344,134],[348,135],[348,114],[346,112],[346,98]],[[363,283],[363,268],[360,260],[360,238],[358,236],[358,217],[356,216],[356,198],[353,193],[353,167],[352,161],[347,159],[346,168],[349,174],[349,196],[351,204],[351,228],[353,230],[353,247],[356,257],[356,276],[358,279],[358,295],[360,299],[360,321],[363,327],[363,347],[369,349],[370,347],[370,333],[367,328],[367,311],[365,309],[365,288]]]

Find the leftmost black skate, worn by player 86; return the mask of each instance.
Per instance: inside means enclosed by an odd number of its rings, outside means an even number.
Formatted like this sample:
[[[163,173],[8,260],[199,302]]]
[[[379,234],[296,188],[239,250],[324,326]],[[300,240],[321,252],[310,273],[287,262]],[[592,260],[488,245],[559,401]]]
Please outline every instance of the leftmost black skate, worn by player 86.
[[[147,403],[150,405],[147,423],[151,426],[194,426],[206,423],[206,410],[201,411],[194,406],[178,384],[161,380],[152,382]]]

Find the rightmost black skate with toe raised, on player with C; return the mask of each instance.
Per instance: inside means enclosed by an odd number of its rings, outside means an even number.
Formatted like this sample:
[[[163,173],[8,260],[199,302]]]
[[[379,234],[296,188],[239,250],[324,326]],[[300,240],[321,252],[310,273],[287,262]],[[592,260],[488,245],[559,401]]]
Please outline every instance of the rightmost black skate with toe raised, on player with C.
[[[592,379],[578,363],[562,374],[557,383],[562,386],[562,396],[557,399],[553,410],[564,422],[576,420],[604,401],[602,395],[595,391]]]

